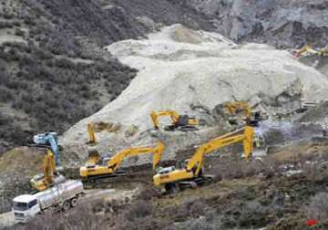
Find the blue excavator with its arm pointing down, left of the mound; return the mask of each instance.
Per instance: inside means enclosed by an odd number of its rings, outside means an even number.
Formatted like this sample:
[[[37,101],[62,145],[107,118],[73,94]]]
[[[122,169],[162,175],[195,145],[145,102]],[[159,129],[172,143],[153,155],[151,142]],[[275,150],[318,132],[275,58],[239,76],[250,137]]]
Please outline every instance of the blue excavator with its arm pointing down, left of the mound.
[[[58,137],[56,132],[45,132],[41,134],[36,134],[33,137],[35,144],[31,146],[36,147],[50,147],[51,151],[55,154],[56,165],[59,164],[59,146],[58,146]]]

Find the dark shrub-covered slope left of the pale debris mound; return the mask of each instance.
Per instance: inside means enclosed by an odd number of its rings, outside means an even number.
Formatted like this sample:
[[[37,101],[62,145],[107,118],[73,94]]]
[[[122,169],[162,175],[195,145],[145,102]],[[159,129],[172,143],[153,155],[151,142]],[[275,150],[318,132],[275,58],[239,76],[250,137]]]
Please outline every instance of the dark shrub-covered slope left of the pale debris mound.
[[[11,108],[0,110],[10,120],[1,124],[0,153],[33,133],[67,130],[118,97],[136,74],[101,51],[144,33],[120,11],[102,11],[97,1],[23,0],[3,3],[0,14],[0,29],[24,39],[0,44],[0,103]]]

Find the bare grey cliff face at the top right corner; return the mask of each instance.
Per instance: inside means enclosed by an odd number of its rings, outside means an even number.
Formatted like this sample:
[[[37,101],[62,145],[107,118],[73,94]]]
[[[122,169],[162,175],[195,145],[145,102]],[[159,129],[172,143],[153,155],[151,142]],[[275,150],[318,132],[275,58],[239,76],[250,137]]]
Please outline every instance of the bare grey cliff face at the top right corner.
[[[235,41],[277,47],[299,47],[305,43],[324,47],[328,42],[328,3],[324,0],[186,2],[211,17],[217,30]]]

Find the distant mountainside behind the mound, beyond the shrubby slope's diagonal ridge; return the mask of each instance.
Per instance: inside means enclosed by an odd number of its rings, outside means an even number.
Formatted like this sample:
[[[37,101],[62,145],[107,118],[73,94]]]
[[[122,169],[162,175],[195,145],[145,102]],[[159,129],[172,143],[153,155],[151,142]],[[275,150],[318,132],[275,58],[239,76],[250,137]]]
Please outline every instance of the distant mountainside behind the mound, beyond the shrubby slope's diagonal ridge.
[[[235,42],[259,42],[276,47],[305,43],[326,46],[328,34],[325,0],[121,0],[132,16],[147,16],[157,23],[181,23],[191,28],[219,32]]]

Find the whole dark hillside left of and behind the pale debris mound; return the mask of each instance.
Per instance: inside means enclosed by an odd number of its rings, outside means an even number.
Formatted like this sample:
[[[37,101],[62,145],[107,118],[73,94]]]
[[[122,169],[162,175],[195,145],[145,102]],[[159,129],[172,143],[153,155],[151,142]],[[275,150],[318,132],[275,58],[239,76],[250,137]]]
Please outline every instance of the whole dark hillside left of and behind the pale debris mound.
[[[128,86],[135,70],[105,45],[180,23],[235,42],[325,46],[326,7],[320,0],[2,0],[0,152],[36,132],[67,130]]]

